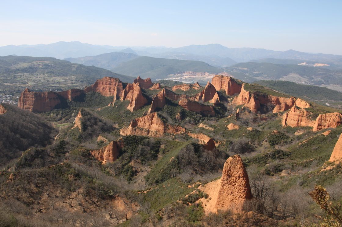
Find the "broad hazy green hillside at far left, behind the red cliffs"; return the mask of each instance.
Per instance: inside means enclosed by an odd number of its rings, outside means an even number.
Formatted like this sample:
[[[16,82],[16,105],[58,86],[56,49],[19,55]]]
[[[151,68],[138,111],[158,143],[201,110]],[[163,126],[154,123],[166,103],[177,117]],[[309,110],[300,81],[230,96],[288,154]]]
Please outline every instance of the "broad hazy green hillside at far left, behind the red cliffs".
[[[0,91],[67,90],[84,88],[104,76],[117,77],[123,82],[134,78],[113,73],[95,66],[73,64],[50,57],[0,57]]]

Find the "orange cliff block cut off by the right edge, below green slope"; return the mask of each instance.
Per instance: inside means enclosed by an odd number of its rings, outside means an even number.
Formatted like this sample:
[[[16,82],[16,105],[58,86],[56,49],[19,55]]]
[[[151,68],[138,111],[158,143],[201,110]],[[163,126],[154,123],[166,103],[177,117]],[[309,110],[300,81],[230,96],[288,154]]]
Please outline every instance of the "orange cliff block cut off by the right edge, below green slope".
[[[319,131],[324,128],[336,128],[342,124],[342,114],[339,112],[325,113],[318,115],[313,131]]]

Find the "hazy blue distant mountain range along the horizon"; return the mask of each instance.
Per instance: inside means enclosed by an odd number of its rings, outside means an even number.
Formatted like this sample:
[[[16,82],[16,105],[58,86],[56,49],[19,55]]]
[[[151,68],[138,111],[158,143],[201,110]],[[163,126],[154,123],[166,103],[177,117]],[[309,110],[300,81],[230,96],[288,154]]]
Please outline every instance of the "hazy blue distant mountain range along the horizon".
[[[18,55],[33,57],[79,58],[96,56],[110,52],[126,52],[148,57],[162,57],[180,60],[198,60],[211,65],[227,67],[236,62],[255,59],[297,59],[297,60],[337,60],[341,55],[310,54],[295,50],[274,51],[260,48],[228,48],[220,44],[190,45],[178,48],[167,47],[127,47],[92,45],[86,43],[57,42],[38,45],[8,45],[0,47],[0,56]]]

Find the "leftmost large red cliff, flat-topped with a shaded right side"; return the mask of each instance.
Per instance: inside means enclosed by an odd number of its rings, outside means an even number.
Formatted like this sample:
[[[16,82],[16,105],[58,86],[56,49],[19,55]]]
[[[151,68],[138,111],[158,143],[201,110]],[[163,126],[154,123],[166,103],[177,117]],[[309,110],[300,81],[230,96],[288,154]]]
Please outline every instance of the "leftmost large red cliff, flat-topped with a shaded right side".
[[[61,96],[56,92],[34,92],[26,88],[20,95],[18,107],[32,112],[47,112],[61,104]]]

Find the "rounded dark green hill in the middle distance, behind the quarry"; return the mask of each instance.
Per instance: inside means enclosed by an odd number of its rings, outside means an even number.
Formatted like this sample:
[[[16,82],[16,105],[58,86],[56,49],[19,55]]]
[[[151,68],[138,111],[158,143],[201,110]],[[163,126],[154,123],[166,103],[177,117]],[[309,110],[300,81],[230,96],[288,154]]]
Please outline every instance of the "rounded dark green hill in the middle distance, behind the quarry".
[[[222,69],[201,61],[139,57],[121,63],[111,71],[129,76],[163,79],[170,74],[184,73],[186,71],[219,73],[222,72]]]

